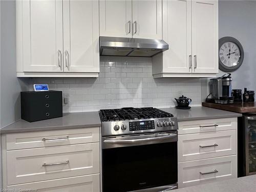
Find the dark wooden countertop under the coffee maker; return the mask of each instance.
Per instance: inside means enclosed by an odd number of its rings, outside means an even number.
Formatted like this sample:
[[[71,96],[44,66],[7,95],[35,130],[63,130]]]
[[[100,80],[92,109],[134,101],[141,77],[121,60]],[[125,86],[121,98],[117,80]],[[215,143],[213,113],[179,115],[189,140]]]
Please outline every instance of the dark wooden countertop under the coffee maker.
[[[202,103],[203,106],[219,110],[231,111],[236,113],[256,113],[256,103],[233,103],[233,104],[217,104],[217,103]]]

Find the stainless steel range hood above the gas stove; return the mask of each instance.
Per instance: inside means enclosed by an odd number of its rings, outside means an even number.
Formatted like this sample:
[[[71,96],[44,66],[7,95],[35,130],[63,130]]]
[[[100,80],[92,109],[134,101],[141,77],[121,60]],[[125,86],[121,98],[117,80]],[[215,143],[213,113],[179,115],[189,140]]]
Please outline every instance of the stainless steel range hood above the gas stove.
[[[168,44],[158,39],[124,37],[99,37],[100,55],[152,57],[169,49]]]

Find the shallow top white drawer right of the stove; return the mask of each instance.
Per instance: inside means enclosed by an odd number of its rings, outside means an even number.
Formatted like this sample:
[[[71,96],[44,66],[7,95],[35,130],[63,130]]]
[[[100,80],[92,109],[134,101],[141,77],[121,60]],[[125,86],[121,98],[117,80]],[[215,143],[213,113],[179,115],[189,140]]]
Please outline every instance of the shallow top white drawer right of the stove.
[[[179,135],[237,129],[237,118],[179,121]]]

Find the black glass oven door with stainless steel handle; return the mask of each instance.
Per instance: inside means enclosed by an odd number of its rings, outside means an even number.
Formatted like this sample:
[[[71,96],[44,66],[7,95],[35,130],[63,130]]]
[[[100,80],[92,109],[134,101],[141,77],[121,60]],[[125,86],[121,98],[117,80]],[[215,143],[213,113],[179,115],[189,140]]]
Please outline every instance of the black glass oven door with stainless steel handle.
[[[177,188],[177,131],[103,138],[103,192]]]

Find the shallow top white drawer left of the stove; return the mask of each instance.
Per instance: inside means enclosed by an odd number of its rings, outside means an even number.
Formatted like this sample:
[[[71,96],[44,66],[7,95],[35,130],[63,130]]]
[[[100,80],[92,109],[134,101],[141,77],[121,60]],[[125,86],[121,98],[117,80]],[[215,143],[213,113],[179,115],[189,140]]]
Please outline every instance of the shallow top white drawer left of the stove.
[[[44,140],[44,138],[50,140]],[[99,127],[6,134],[7,150],[98,141]]]

